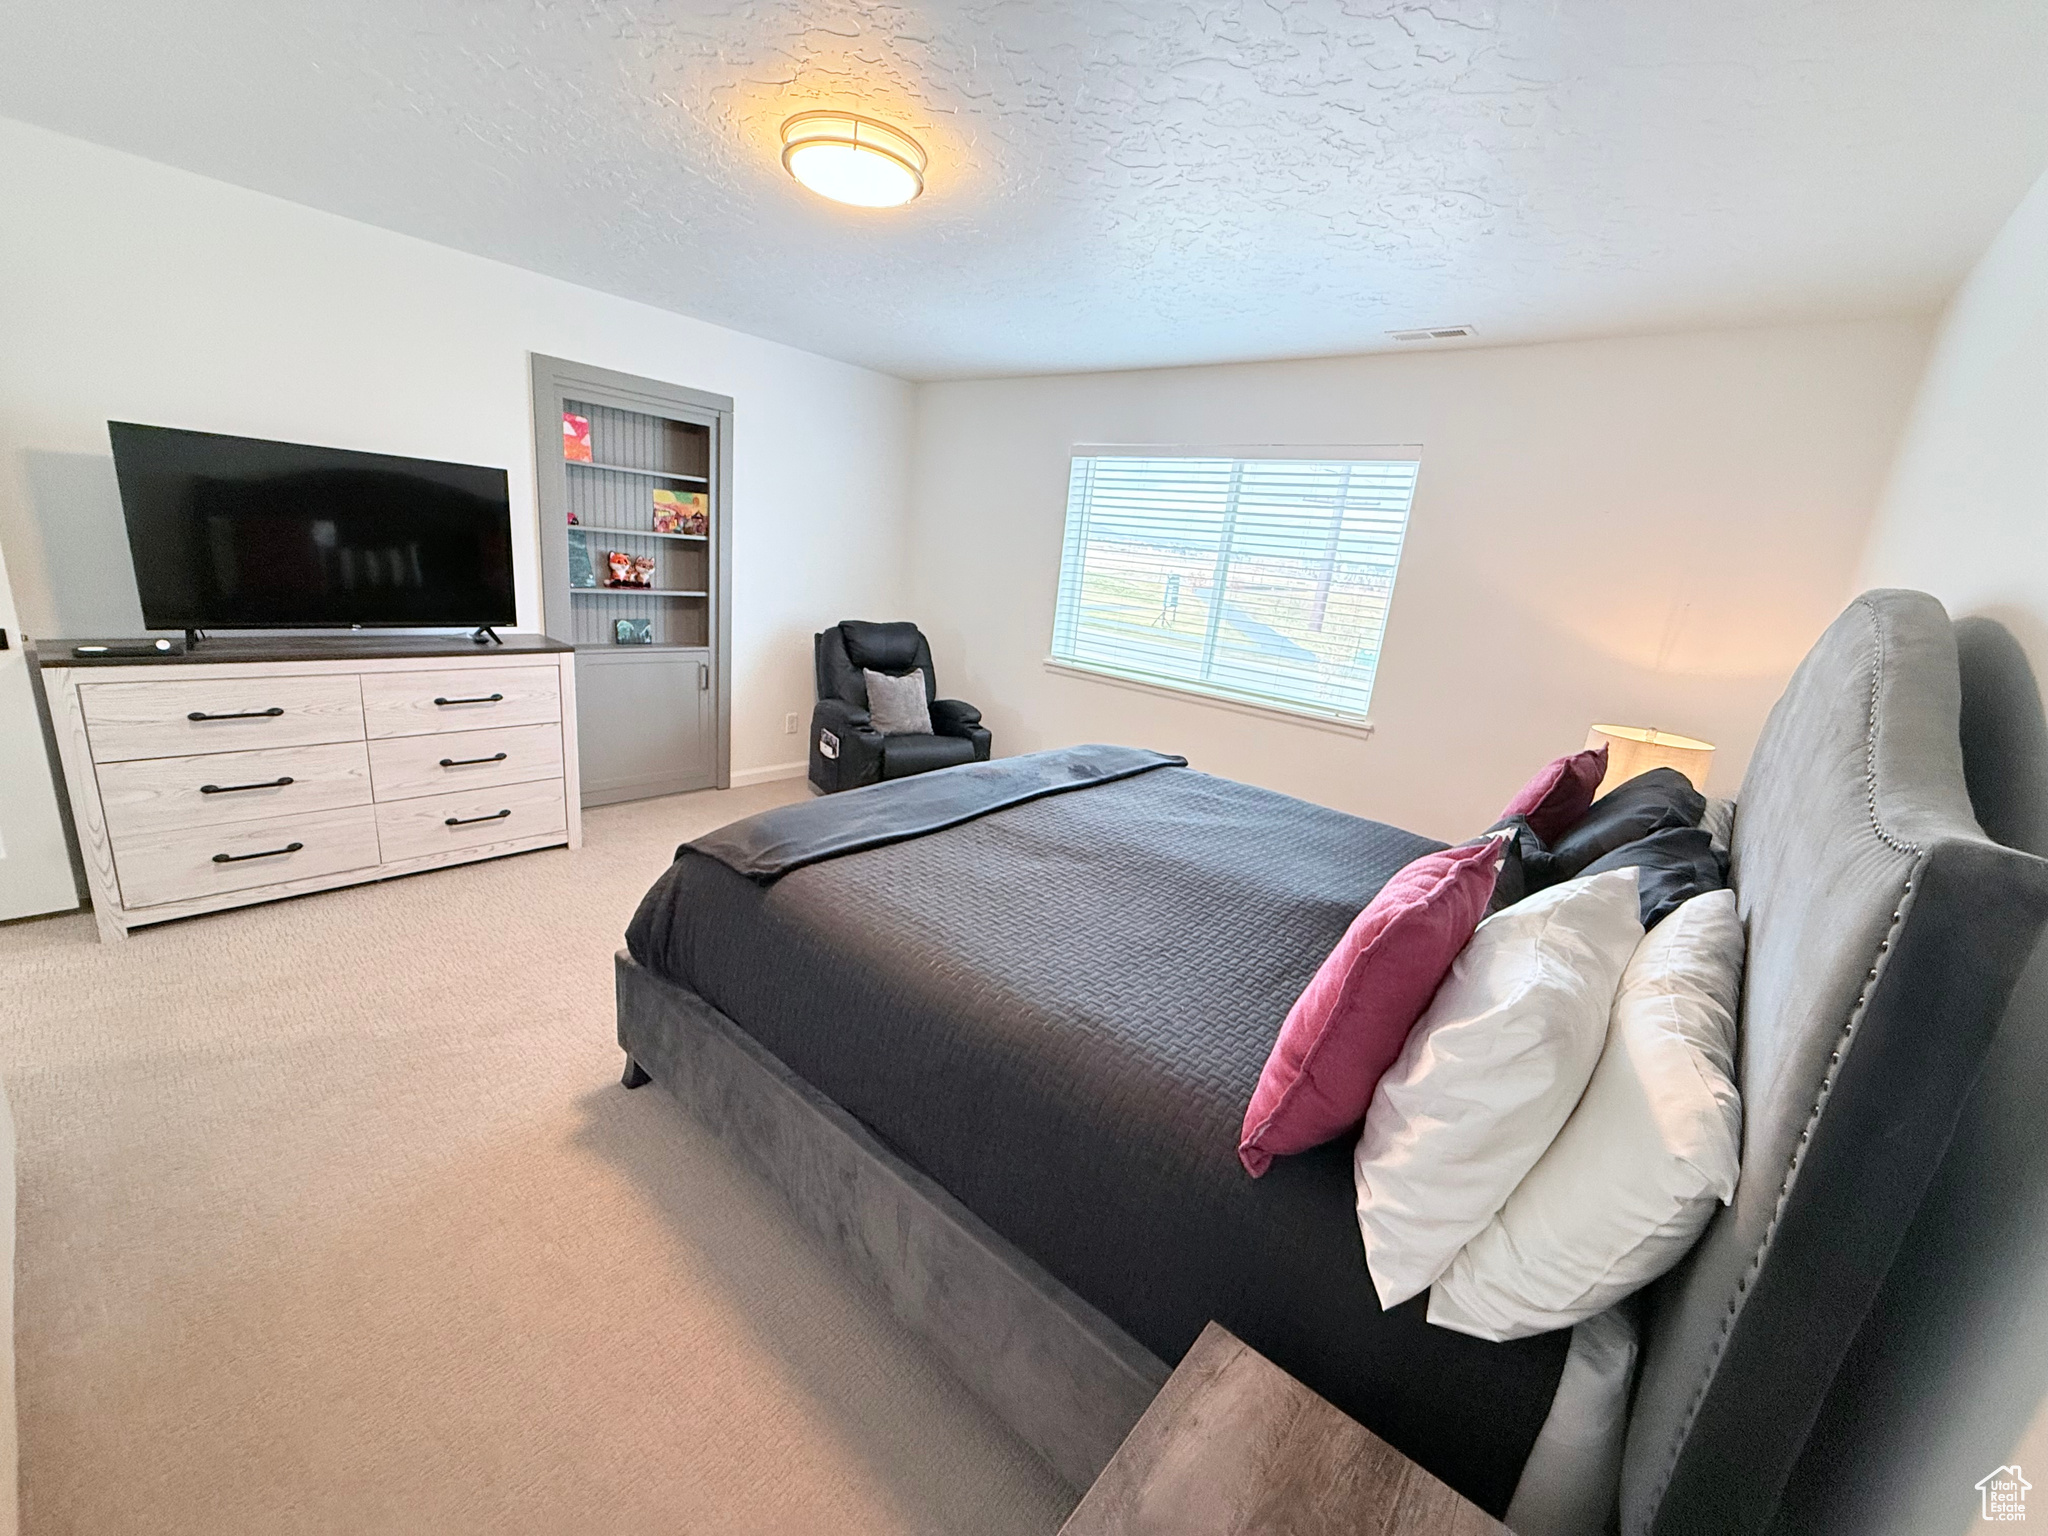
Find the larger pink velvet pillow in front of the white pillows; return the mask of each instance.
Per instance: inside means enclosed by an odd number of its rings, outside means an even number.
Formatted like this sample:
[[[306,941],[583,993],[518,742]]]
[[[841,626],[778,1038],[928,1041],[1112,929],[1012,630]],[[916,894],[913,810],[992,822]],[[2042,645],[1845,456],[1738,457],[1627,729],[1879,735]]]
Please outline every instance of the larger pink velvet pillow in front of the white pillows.
[[[1294,999],[1245,1110],[1237,1159],[1251,1178],[1274,1157],[1358,1130],[1493,895],[1495,840],[1423,854],[1352,920]]]

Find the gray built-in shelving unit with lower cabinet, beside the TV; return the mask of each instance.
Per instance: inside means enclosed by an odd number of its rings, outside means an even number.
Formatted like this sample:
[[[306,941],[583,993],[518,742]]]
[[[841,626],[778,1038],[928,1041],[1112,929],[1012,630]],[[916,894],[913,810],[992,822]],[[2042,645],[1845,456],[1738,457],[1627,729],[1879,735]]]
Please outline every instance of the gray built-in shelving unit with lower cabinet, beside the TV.
[[[725,784],[731,401],[557,358],[532,369],[543,602],[578,653],[584,803]],[[588,422],[590,459],[565,455],[565,414]],[[657,530],[655,494],[707,530]],[[651,584],[610,586],[614,553],[651,561]],[[623,618],[649,643],[621,643]]]

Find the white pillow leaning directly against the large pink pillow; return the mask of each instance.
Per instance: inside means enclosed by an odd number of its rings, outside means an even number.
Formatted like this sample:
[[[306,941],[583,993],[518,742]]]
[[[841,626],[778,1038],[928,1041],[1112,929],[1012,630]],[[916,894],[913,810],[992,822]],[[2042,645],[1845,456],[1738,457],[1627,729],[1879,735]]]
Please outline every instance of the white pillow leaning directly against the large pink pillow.
[[[1634,868],[1479,924],[1372,1092],[1352,1159],[1382,1307],[1427,1290],[1542,1157],[1593,1075],[1640,938]]]

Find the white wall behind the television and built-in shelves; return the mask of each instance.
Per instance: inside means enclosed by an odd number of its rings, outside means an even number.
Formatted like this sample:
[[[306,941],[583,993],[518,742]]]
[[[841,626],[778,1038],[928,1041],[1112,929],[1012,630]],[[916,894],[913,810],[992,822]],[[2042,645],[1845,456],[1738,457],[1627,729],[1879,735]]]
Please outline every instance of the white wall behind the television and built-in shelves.
[[[811,631],[901,606],[907,383],[0,119],[0,547],[31,635],[96,627],[59,563],[125,555],[109,418],[502,465],[539,629],[528,352],[733,397],[733,770],[797,762]]]

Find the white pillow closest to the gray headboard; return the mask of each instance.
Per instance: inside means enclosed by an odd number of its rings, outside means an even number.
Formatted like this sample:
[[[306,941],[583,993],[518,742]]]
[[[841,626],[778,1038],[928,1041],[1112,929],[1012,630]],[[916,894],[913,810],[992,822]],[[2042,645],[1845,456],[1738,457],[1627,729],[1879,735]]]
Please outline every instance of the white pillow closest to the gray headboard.
[[[1483,1339],[1569,1327],[1683,1257],[1735,1198],[1743,1104],[1735,891],[1698,895],[1636,948],[1585,1098],[1501,1214],[1430,1292],[1430,1321]]]

